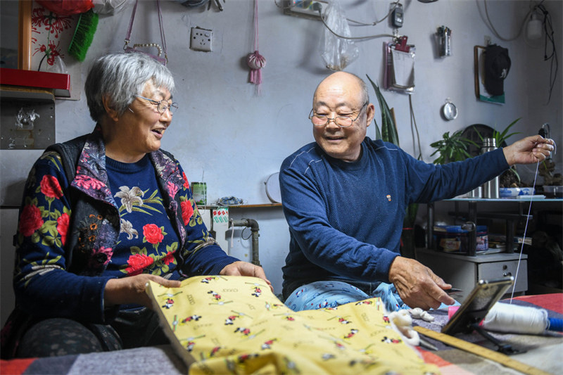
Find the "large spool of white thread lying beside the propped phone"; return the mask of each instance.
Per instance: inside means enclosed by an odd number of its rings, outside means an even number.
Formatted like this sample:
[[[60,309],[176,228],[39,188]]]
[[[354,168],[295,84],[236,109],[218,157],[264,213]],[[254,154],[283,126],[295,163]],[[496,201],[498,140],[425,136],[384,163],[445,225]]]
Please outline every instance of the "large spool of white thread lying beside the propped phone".
[[[499,332],[543,333],[548,328],[548,312],[536,307],[495,303],[481,326]]]

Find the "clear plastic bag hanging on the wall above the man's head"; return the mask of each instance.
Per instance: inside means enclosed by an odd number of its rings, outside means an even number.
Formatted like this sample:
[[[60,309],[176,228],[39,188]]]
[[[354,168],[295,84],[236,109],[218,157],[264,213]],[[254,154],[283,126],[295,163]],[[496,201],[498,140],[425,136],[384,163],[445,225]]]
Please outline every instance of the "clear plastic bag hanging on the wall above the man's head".
[[[324,22],[336,34],[343,37],[351,36],[350,27],[339,0],[329,1],[327,11],[324,13]],[[350,39],[337,37],[330,30],[324,30],[320,44],[321,56],[330,70],[343,70],[358,58],[360,54],[358,46]]]

